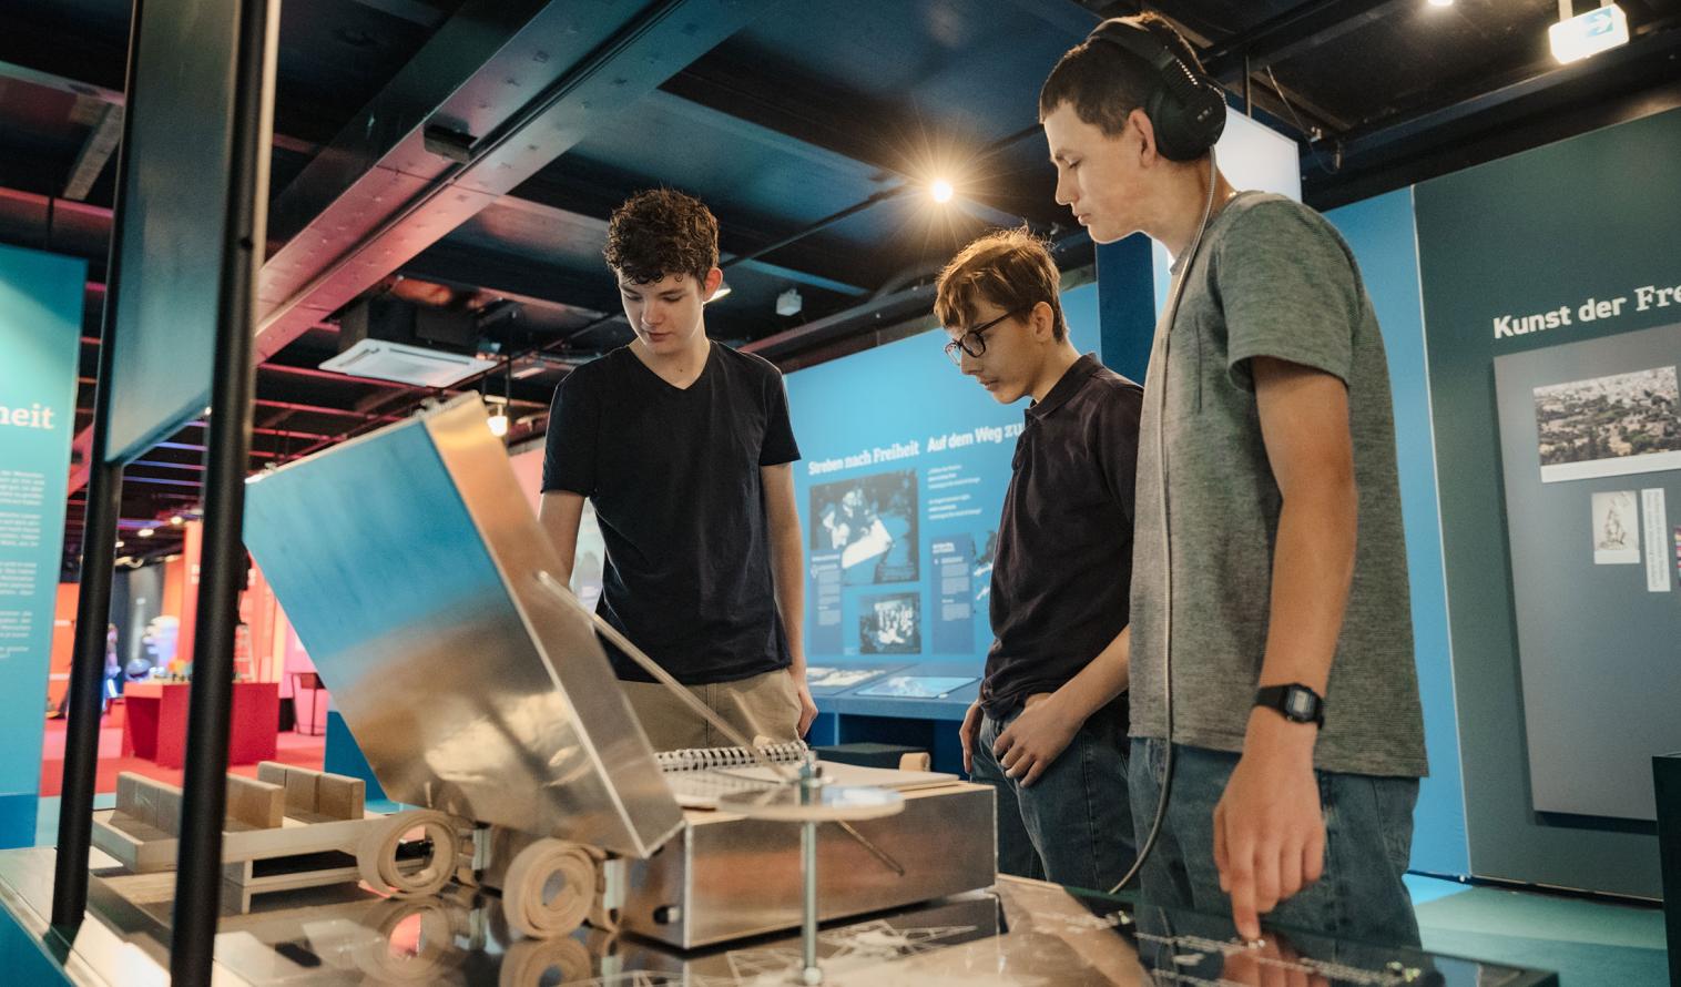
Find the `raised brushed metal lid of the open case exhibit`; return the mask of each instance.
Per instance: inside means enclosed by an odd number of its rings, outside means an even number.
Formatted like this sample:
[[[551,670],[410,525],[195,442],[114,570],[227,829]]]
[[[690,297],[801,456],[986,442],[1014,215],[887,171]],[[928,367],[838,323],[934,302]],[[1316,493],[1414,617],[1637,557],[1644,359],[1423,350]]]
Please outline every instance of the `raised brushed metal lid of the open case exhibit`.
[[[392,799],[634,858],[681,827],[476,395],[250,483],[245,545]]]

